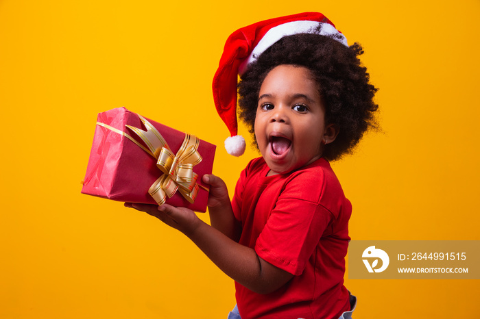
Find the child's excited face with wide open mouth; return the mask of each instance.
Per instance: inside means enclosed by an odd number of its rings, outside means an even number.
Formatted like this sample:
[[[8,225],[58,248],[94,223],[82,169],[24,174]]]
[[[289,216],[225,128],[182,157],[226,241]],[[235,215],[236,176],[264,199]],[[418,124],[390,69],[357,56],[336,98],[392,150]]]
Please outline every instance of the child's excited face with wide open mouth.
[[[289,173],[322,156],[324,118],[320,92],[307,68],[280,65],[268,73],[254,130],[269,175]]]

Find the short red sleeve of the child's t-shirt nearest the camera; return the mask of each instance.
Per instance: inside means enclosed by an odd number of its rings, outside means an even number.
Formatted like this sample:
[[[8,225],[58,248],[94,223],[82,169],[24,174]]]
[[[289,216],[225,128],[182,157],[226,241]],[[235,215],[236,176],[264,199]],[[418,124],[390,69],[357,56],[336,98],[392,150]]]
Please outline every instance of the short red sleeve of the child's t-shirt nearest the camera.
[[[322,234],[333,221],[333,214],[320,205],[321,190],[312,196],[308,186],[292,184],[278,197],[256,241],[255,251],[270,264],[292,275],[301,275]],[[307,199],[302,199],[306,189],[309,190]]]

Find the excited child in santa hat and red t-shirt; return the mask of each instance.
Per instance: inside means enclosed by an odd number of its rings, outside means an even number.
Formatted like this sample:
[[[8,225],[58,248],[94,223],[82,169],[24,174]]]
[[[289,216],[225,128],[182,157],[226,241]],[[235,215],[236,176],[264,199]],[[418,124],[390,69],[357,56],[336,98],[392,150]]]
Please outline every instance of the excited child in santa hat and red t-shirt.
[[[203,177],[211,226],[189,209],[125,204],[182,231],[235,279],[229,318],[351,317],[356,298],[343,283],[352,207],[328,160],[374,127],[376,88],[361,53],[315,12],[239,29],[227,40],[214,99],[236,136],[240,72],[240,116],[262,157],[243,170],[231,203],[219,177]],[[243,141],[229,143],[230,153],[243,152]]]

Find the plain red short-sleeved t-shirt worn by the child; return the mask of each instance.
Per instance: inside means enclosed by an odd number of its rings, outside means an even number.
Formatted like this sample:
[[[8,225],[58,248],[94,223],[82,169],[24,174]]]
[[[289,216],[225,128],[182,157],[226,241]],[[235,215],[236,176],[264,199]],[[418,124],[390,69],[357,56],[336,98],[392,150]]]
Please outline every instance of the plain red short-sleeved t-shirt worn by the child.
[[[271,294],[235,282],[242,319],[335,318],[350,310],[344,286],[352,212],[326,159],[267,177],[262,157],[242,171],[232,199],[240,244],[294,277]]]

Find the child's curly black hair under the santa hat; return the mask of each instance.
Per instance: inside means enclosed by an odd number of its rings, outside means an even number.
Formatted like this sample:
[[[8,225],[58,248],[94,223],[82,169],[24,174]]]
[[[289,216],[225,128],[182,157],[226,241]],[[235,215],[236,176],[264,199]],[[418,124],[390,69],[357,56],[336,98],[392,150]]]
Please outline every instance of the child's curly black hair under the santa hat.
[[[311,71],[326,107],[325,122],[339,129],[337,138],[324,146],[322,156],[333,161],[352,153],[365,131],[378,128],[374,117],[379,108],[374,103],[378,89],[369,83],[367,69],[358,58],[361,54],[363,48],[357,42],[346,47],[320,34],[285,36],[262,53],[238,84],[239,116],[257,149],[254,123],[261,84],[273,68],[289,64]]]

